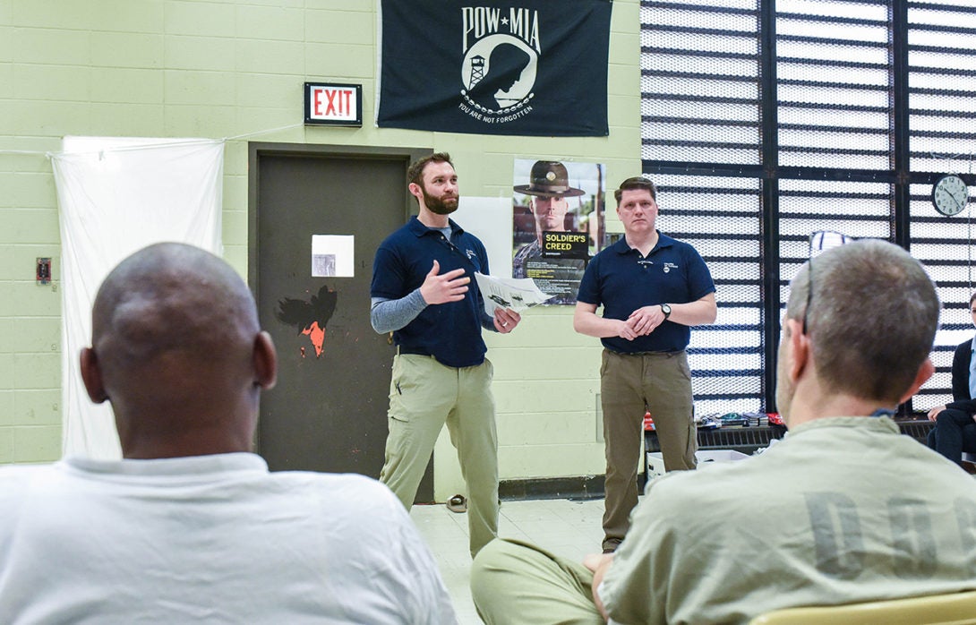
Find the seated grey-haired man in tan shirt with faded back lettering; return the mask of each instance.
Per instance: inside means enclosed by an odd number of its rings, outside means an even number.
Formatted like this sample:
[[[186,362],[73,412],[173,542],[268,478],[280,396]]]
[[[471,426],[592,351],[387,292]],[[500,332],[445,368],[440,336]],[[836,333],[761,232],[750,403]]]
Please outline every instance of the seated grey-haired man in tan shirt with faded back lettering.
[[[708,625],[976,589],[972,479],[888,416],[934,371],[939,308],[900,247],[825,251],[793,278],[783,323],[776,397],[789,435],[651,481],[613,555],[579,563],[490,543],[471,570],[478,612],[489,624]]]

